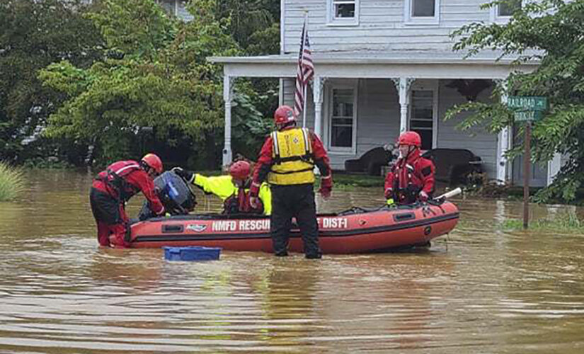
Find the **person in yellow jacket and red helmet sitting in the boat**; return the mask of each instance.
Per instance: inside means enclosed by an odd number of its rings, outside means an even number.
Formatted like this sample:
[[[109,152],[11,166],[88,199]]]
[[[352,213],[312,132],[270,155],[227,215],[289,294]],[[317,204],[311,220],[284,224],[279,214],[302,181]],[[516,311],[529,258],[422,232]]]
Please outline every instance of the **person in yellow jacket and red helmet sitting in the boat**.
[[[205,193],[221,198],[224,214],[270,215],[272,212],[272,193],[266,183],[258,190],[260,202],[251,205],[249,200],[251,164],[248,161],[235,161],[229,166],[228,176],[207,177],[181,167],[175,167],[172,171]]]

